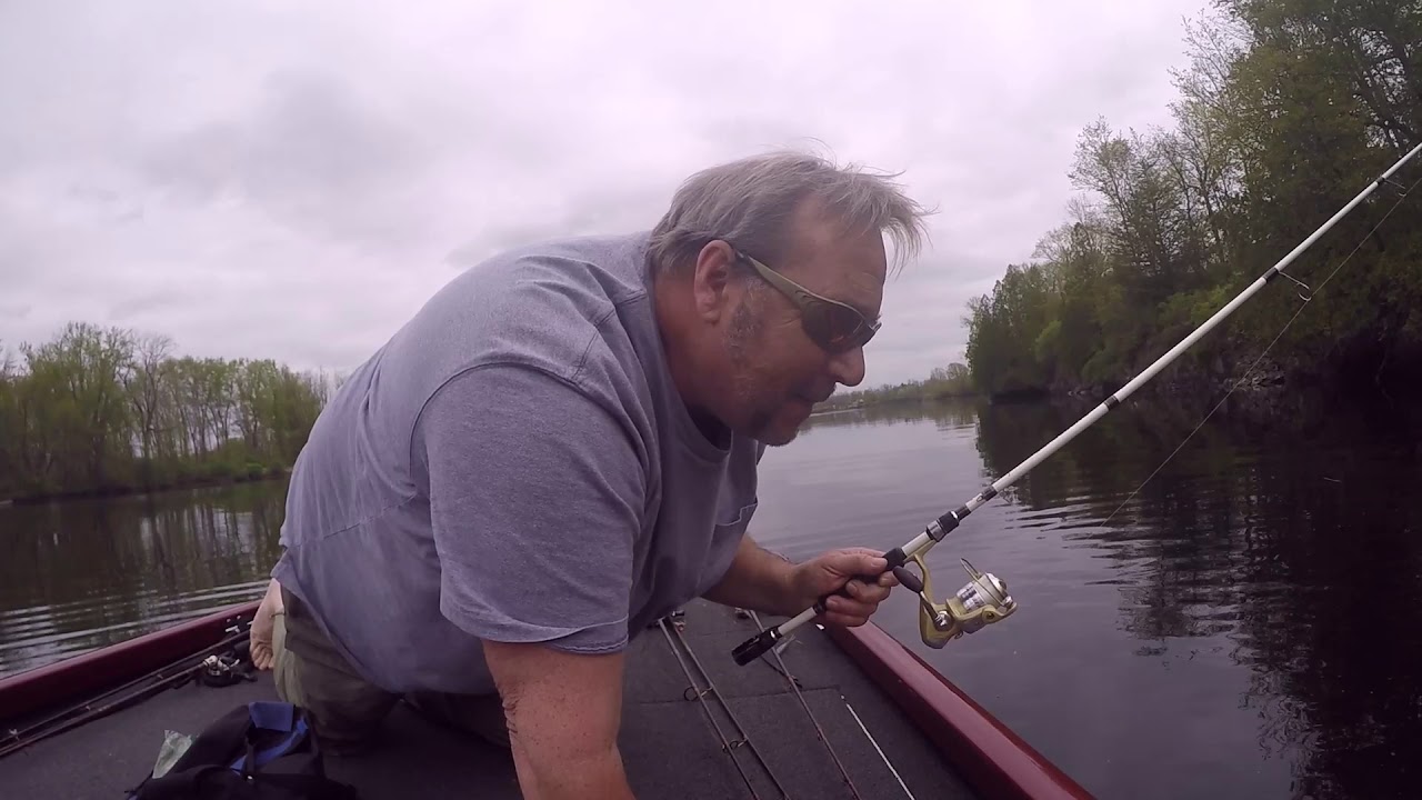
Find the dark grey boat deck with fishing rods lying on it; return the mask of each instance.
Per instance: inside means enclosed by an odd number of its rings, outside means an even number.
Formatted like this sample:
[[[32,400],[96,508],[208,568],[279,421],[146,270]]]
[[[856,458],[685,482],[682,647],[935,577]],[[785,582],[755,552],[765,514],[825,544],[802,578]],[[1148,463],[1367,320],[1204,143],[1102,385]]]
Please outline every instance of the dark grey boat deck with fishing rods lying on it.
[[[633,641],[620,747],[637,797],[977,797],[825,631],[802,628],[779,660],[737,666],[732,648],[757,631],[749,616],[695,602]],[[270,673],[165,690],[0,759],[0,796],[122,797],[152,769],[165,730],[195,735],[255,699],[276,699]],[[412,786],[425,800],[519,797],[508,750],[404,703],[384,733],[373,753],[327,754],[328,774],[363,799],[408,797]],[[725,749],[722,735],[735,746]]]

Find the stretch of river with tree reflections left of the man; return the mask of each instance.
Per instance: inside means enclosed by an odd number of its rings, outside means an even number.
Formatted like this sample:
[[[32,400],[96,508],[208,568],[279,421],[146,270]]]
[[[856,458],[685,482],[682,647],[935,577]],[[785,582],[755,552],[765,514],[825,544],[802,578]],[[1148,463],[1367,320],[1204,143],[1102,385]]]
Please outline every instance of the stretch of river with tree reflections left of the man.
[[[260,596],[286,481],[0,508],[0,675]]]

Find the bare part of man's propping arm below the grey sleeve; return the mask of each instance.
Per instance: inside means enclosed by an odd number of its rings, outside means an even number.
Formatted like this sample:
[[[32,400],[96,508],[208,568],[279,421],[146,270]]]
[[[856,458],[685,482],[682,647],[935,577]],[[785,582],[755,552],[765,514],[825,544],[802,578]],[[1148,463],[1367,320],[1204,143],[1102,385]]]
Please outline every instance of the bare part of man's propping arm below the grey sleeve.
[[[623,655],[485,642],[528,800],[633,800],[617,729]]]

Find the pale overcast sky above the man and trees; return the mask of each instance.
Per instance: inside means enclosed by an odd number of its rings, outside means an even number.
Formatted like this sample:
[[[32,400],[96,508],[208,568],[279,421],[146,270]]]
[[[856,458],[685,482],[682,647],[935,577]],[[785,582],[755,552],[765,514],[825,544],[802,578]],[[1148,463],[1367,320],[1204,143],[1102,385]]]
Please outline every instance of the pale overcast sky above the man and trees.
[[[862,387],[923,379],[1065,219],[1081,130],[1169,125],[1204,6],[0,4],[0,347],[78,320],[344,372],[502,248],[802,147],[936,209]]]

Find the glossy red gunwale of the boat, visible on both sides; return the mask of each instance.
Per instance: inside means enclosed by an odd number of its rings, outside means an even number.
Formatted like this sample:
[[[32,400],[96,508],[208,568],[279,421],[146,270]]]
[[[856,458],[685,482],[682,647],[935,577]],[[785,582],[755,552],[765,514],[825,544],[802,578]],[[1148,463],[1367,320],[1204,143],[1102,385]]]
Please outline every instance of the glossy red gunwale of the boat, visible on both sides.
[[[257,601],[232,605],[0,679],[0,719],[18,717],[139,678],[220,642],[229,626],[249,621],[256,609]],[[825,629],[984,797],[1092,800],[1061,769],[873,622]]]

